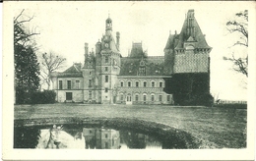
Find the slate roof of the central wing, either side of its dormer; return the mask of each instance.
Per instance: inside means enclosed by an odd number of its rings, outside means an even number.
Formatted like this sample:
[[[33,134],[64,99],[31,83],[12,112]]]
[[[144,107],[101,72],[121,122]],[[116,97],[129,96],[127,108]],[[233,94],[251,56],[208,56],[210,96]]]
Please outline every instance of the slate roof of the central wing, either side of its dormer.
[[[138,76],[142,58],[121,58],[121,70],[119,76]],[[163,56],[149,56],[143,59],[146,64],[146,76],[163,75]]]

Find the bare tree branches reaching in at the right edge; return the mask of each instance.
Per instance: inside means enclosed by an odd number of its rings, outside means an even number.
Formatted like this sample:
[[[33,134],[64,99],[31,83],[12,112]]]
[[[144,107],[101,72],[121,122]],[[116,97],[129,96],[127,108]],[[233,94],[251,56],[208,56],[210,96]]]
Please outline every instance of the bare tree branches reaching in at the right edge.
[[[226,23],[229,33],[236,34],[238,40],[233,43],[233,46],[248,47],[248,11],[244,10],[235,14],[235,19]],[[245,56],[235,56],[232,53],[231,57],[224,57],[224,60],[233,62],[233,70],[248,77],[248,54]]]

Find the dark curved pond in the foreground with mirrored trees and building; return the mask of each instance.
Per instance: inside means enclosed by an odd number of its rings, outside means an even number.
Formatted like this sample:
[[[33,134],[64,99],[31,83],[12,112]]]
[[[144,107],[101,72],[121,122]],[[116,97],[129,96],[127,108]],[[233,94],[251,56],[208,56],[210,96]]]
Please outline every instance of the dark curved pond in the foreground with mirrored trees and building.
[[[162,135],[85,125],[51,125],[14,129],[14,148],[171,149],[184,147],[184,144],[176,142],[178,141]]]

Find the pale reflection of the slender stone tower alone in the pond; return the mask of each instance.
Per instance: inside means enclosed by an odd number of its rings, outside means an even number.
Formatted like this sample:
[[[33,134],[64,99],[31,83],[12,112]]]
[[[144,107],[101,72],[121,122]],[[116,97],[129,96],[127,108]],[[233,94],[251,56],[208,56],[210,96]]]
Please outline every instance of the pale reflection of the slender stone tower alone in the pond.
[[[118,131],[83,128],[87,149],[117,149],[120,146]]]

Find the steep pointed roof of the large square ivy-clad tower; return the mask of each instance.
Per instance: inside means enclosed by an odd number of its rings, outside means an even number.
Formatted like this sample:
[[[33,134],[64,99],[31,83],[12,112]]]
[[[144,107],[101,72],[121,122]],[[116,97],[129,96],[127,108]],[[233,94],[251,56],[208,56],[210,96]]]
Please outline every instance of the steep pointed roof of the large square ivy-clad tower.
[[[194,10],[189,10],[180,31],[178,44],[175,46],[175,49],[183,49],[184,42],[191,41],[192,38],[196,42],[195,48],[211,48],[207,44],[205,35],[202,33],[201,28],[194,17]]]

